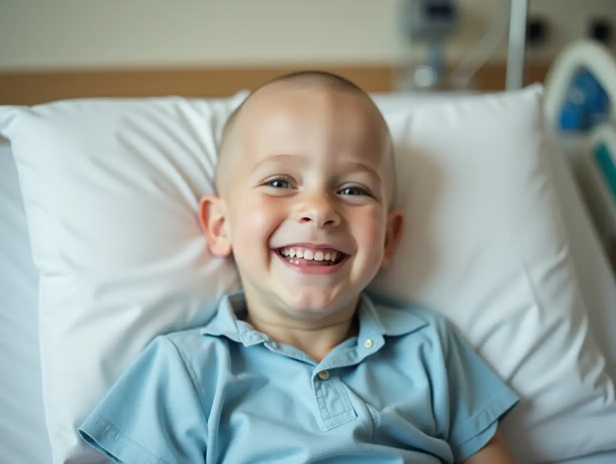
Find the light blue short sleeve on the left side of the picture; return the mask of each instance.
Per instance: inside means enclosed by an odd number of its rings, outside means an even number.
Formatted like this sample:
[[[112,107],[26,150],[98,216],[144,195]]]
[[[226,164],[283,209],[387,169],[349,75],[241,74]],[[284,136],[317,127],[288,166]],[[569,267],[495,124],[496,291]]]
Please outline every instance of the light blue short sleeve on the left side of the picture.
[[[156,338],[79,428],[113,462],[205,462],[208,426],[195,376],[176,345]]]

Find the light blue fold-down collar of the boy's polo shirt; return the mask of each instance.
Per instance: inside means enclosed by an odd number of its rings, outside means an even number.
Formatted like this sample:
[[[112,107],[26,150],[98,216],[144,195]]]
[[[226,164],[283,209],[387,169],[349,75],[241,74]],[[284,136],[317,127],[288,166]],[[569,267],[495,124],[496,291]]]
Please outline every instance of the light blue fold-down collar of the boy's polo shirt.
[[[413,313],[413,307],[378,295],[362,294],[359,307],[360,340],[382,336],[400,336],[415,332],[428,322]],[[216,314],[201,328],[201,334],[224,336],[245,346],[270,341],[264,333],[257,332],[242,320],[246,316],[246,299],[243,291],[222,297]]]

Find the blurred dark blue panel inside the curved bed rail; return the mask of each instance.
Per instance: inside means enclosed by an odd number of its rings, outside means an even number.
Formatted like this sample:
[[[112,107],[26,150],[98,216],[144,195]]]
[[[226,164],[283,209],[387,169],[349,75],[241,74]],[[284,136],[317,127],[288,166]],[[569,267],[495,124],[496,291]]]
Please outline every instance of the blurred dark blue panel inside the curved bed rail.
[[[607,92],[593,73],[582,69],[573,77],[561,110],[561,132],[590,132],[609,118]]]

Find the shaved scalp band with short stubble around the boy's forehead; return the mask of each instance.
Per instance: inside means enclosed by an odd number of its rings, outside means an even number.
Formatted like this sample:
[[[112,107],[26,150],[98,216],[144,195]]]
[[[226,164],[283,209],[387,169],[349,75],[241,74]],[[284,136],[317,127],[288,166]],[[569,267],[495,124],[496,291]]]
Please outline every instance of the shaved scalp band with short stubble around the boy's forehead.
[[[241,137],[242,124],[245,122],[246,113],[255,111],[267,111],[268,99],[274,97],[278,92],[289,90],[305,91],[324,91],[341,92],[349,94],[361,100],[365,112],[370,113],[371,120],[374,121],[375,134],[384,137],[386,144],[384,154],[384,179],[387,186],[387,200],[389,206],[394,203],[395,195],[395,168],[393,147],[389,128],[368,94],[359,86],[348,79],[325,71],[299,71],[287,75],[279,76],[259,86],[252,91],[242,104],[229,116],[222,132],[221,144],[219,147],[218,163],[216,170],[216,188],[219,194],[223,195],[225,190],[227,174],[233,171],[233,166],[238,162],[241,150],[238,149],[238,139]],[[254,108],[253,108],[254,107]],[[224,184],[223,184],[224,183]]]

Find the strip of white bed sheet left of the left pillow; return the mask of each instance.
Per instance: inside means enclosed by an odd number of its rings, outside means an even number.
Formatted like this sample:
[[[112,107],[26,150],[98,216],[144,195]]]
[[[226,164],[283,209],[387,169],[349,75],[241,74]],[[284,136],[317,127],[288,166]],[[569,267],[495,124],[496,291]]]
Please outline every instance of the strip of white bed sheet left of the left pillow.
[[[51,463],[41,396],[38,278],[9,145],[0,137],[0,462]]]

